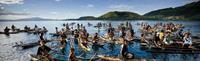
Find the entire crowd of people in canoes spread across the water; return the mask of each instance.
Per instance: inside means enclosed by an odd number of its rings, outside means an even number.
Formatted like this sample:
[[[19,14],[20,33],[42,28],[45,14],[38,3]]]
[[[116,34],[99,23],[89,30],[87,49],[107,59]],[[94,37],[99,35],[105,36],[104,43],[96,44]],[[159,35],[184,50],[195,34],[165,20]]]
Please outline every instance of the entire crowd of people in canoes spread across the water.
[[[70,26],[72,25],[72,26]],[[79,61],[77,56],[75,55],[76,48],[74,44],[77,44],[80,49],[84,52],[93,51],[96,52],[97,55],[99,49],[109,48],[110,51],[114,51],[116,48],[116,44],[119,44],[121,47],[120,55],[118,58],[120,59],[133,59],[134,53],[129,52],[128,45],[133,44],[138,37],[135,36],[134,27],[130,22],[120,23],[117,27],[113,27],[111,23],[97,23],[95,28],[106,28],[104,35],[99,35],[99,30],[94,34],[89,34],[86,27],[83,24],[63,24],[63,28],[58,30],[58,27],[55,27],[55,34],[59,39],[59,48],[63,54],[66,54],[66,46],[70,43],[70,52],[69,58],[66,60],[70,61]],[[75,27],[74,27],[75,25]],[[92,26],[91,23],[88,23],[88,26]],[[181,44],[181,47],[192,47],[192,38],[191,31],[183,31],[184,26],[182,24],[174,24],[174,23],[156,23],[154,25],[150,25],[148,23],[142,22],[139,24],[140,26],[140,42],[147,43],[148,45],[155,45],[159,48],[164,48],[165,46],[178,43]],[[11,26],[12,29],[16,27],[14,25]],[[30,27],[25,26],[25,30],[30,30]],[[34,30],[40,30],[37,25],[33,28]],[[47,30],[45,27],[43,30]],[[9,28],[5,28],[5,32],[9,32]],[[117,33],[117,34],[116,34]],[[40,36],[39,40],[39,48],[37,51],[38,56],[47,57],[49,60],[55,60],[49,54],[49,51],[52,49],[45,45],[44,32],[38,33]],[[73,39],[73,40],[72,40]],[[69,40],[67,42],[67,40]],[[72,43],[74,42],[74,43]],[[72,43],[72,44],[71,44]],[[108,47],[105,48],[105,44],[108,44]],[[90,49],[89,46],[92,46]],[[116,57],[115,57],[116,58]],[[102,58],[104,59],[104,58]]]

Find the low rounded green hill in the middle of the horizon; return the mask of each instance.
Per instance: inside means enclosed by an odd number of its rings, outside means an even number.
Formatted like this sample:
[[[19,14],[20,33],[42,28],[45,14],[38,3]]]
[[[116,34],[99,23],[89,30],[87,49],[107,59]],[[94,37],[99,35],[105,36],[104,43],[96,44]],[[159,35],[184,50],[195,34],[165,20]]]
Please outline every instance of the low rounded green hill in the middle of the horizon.
[[[142,16],[137,13],[127,12],[127,11],[108,12],[98,17],[98,19],[103,19],[103,20],[133,20],[141,18]]]

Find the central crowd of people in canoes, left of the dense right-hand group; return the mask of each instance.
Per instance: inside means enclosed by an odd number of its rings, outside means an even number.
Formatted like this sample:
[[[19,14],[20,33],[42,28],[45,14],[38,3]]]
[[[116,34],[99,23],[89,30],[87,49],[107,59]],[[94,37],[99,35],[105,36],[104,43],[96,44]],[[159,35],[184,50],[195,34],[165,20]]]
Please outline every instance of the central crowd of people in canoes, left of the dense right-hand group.
[[[107,26],[105,35],[99,35],[98,32],[96,32],[93,36],[87,32],[87,29],[83,24],[77,24],[76,28],[73,28],[68,25],[64,24],[64,28],[61,29],[61,31],[58,30],[58,27],[56,27],[56,34],[58,34],[58,38],[60,38],[60,49],[64,53],[67,38],[69,38],[69,35],[72,36],[71,38],[74,38],[75,44],[78,44],[80,48],[82,48],[83,51],[87,52],[90,51],[90,45],[92,46],[93,51],[99,51],[99,48],[105,49],[104,45],[105,43],[109,44],[110,51],[114,51],[115,44],[120,44],[121,47],[121,57],[124,59],[131,59],[133,57],[133,53],[128,52],[128,44],[134,42],[134,30],[132,28],[131,23],[121,23],[118,28],[114,28],[111,23],[100,25],[101,23],[98,23],[98,27]],[[90,25],[90,24],[89,24]],[[117,37],[115,32],[119,33],[120,37]],[[42,38],[43,34],[40,35],[40,42],[44,41],[44,38]],[[51,49],[47,48],[45,45],[40,43],[41,46],[38,48],[38,53],[40,52],[48,52]],[[43,49],[42,49],[43,48]],[[89,50],[87,50],[89,49]],[[78,60],[74,54],[74,51],[76,49],[74,47],[70,47],[70,58],[69,60],[76,61]],[[98,52],[96,53],[98,54]],[[41,54],[39,54],[41,55]],[[45,55],[49,55],[45,53]]]

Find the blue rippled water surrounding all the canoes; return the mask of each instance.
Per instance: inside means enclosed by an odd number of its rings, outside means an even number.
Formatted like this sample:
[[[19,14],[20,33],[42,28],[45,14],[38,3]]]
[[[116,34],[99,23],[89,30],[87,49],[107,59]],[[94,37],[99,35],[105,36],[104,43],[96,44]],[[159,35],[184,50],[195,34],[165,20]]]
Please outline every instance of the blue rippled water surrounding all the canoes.
[[[49,33],[55,32],[55,27],[58,27],[59,30],[62,27],[63,23],[82,23],[86,26],[87,31],[90,34],[94,34],[97,32],[97,29],[94,27],[87,27],[87,23],[90,22],[92,24],[97,24],[98,22],[108,23],[112,22],[113,26],[117,26],[122,22],[126,21],[0,21],[0,31],[8,26],[10,27],[14,24],[17,28],[23,29],[25,25],[30,27],[34,27],[37,24],[39,27],[45,26]],[[138,20],[138,21],[129,21],[132,23],[133,28],[136,32],[136,36],[139,36],[139,26],[137,23],[147,22],[149,24],[155,24],[157,22],[173,22],[173,23],[181,23],[185,25],[185,29],[191,29],[193,34],[200,34],[200,21],[147,21],[147,20]],[[104,31],[100,33],[104,34]],[[6,36],[4,34],[0,34],[0,61],[29,61],[30,58],[27,56],[28,54],[36,54],[37,48],[30,48],[26,50],[22,50],[20,48],[13,48],[15,42],[22,41],[24,43],[36,42],[38,41],[39,36],[27,33],[19,33],[19,34],[11,34],[10,36]],[[46,35],[47,39],[51,39],[53,37]],[[52,45],[55,42],[50,42],[47,45]],[[68,44],[69,45],[69,44]],[[117,46],[117,45],[116,45]],[[106,46],[104,46],[106,47]],[[118,46],[120,47],[120,46]],[[68,49],[68,48],[67,48]],[[113,52],[109,50],[100,49],[103,55],[117,56],[119,54],[120,48],[115,48],[116,50]],[[145,51],[140,50],[139,44],[134,43],[129,45],[129,51],[135,54],[136,58],[156,58],[163,59],[165,61],[200,61],[200,54],[151,54]],[[104,53],[103,53],[104,52]],[[76,55],[80,55],[82,52],[80,50],[76,51]],[[93,56],[93,52],[87,53],[87,58]]]

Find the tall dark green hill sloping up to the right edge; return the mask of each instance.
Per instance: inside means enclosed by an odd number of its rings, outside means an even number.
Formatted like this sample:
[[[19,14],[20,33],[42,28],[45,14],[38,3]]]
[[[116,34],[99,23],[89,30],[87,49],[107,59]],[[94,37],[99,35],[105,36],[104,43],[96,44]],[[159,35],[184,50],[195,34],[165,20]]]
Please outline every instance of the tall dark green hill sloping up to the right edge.
[[[165,8],[144,14],[146,19],[200,20],[200,1],[175,8]]]

